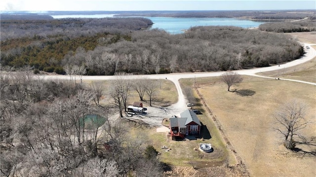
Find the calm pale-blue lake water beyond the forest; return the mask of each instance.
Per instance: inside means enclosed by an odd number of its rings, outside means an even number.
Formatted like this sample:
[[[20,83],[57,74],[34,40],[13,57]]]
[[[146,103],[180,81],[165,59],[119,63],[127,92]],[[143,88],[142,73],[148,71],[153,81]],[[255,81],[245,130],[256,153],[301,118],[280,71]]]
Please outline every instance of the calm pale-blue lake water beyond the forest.
[[[105,18],[115,14],[97,15],[52,15],[53,18]],[[190,27],[196,26],[237,26],[241,28],[258,27],[264,22],[240,20],[236,18],[174,18],[174,17],[144,17],[154,22],[152,28],[162,29],[170,34],[184,33]]]

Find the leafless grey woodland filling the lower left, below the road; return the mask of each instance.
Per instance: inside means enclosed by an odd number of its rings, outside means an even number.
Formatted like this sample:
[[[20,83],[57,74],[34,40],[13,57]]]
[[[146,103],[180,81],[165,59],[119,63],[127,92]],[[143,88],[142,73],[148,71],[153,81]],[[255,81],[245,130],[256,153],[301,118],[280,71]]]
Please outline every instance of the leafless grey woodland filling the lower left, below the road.
[[[1,176],[161,177],[146,136],[130,136],[104,87],[41,80],[28,70],[0,74]]]

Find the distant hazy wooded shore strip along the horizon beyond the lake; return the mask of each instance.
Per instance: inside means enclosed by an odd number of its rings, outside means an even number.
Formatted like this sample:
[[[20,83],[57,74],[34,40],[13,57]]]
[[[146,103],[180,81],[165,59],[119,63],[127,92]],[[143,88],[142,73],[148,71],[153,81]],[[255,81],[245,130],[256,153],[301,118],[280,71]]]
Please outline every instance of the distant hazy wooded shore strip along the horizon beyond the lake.
[[[113,15],[113,17],[240,18],[253,21],[287,21],[316,18],[316,9],[306,10],[176,10],[176,11],[1,11],[2,15]],[[2,19],[2,17],[1,17]]]

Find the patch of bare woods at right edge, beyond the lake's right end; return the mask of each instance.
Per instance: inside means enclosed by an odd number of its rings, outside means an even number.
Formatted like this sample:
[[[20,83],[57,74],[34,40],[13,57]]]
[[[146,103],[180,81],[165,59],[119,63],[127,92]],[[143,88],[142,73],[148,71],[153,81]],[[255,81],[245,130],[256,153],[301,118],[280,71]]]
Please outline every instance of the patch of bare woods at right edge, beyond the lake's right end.
[[[316,21],[264,23],[259,26],[259,29],[276,33],[315,32]]]

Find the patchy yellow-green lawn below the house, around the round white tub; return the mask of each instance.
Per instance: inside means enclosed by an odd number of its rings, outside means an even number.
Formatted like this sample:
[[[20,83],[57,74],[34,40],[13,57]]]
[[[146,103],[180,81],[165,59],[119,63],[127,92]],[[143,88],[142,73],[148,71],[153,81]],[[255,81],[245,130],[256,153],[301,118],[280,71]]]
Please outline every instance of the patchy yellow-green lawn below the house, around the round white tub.
[[[157,133],[156,128],[134,127],[131,130],[134,135],[139,133],[148,136],[148,144],[153,145],[161,154],[159,159],[167,164],[174,166],[195,166],[197,168],[212,167],[223,165],[227,150],[224,144],[218,139],[218,135],[212,135],[208,140],[187,140],[172,141],[168,133]],[[198,149],[199,143],[211,143],[214,151],[212,153],[201,152]],[[167,146],[170,150],[161,149]]]

